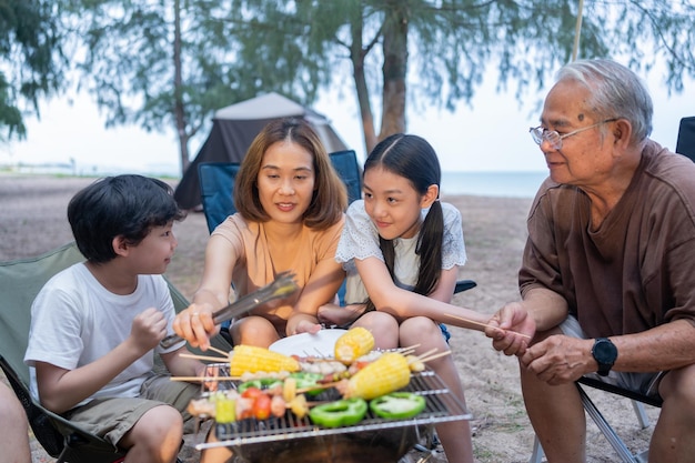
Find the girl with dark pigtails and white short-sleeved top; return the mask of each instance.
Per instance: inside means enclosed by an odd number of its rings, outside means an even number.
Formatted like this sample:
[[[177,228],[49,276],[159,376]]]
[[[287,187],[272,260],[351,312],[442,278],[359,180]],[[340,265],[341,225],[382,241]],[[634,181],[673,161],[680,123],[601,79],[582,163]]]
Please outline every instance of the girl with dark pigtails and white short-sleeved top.
[[[354,325],[370,329],[380,349],[447,351],[437,322],[475,328],[447,314],[480,323],[488,318],[449,304],[466,255],[460,212],[439,201],[437,157],[424,139],[395,134],[369,155],[363,180],[364,200],[348,210],[335,255],[348,271],[348,306],[325,305],[320,319],[336,324],[356,319]],[[452,356],[427,364],[464,402]],[[436,431],[450,462],[473,462],[467,421]]]

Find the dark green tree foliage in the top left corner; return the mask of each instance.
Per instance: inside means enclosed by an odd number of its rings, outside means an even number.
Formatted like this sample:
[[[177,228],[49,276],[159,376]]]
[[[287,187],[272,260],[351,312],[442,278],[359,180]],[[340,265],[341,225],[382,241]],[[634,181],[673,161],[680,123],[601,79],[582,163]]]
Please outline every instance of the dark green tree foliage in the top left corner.
[[[24,138],[22,111],[38,114],[39,99],[62,88],[57,18],[50,0],[0,0],[0,140]]]

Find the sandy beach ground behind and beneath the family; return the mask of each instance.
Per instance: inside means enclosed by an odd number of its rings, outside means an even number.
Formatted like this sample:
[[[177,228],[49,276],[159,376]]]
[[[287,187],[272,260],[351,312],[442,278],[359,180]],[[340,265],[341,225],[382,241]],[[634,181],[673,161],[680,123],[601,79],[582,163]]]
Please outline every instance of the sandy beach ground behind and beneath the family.
[[[68,201],[80,188],[91,183],[88,178],[56,178],[0,173],[0,260],[32,256],[68,241],[70,229],[66,219]],[[530,199],[450,197],[463,214],[463,229],[469,263],[461,278],[477,282],[477,288],[454,298],[454,303],[493,313],[502,304],[518,298],[516,271],[525,241],[525,217]],[[191,213],[175,225],[179,248],[169,266],[168,276],[184,295],[191,296],[202,274],[203,250],[208,229],[202,213]],[[466,390],[467,406],[473,414],[473,446],[480,463],[527,462],[534,433],[526,416],[514,359],[495,352],[480,332],[452,328],[452,351]],[[4,379],[3,379],[4,381]],[[615,399],[600,391],[590,395],[614,424],[628,446],[643,450],[653,425],[639,430],[626,399]],[[647,407],[655,422],[658,411]],[[199,436],[189,436],[195,442]],[[600,431],[588,426],[588,462],[620,461]],[[40,445],[32,442],[34,462],[52,462]],[[182,456],[198,461],[198,453],[188,446]],[[415,462],[422,454],[411,452]],[[430,462],[445,462],[433,455]]]

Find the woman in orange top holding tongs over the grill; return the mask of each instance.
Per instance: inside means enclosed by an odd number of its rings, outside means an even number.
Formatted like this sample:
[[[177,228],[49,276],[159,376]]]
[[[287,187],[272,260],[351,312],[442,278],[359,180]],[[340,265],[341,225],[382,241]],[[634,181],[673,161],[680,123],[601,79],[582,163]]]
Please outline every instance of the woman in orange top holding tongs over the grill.
[[[335,248],[348,204],[345,188],[311,127],[299,119],[268,124],[243,159],[234,184],[238,213],[222,222],[205,250],[203,278],[174,330],[208,349],[219,328],[212,312],[238,296],[295,273],[299,290],[234,320],[234,344],[268,348],[300,332],[316,332],[316,311],[344,279]]]

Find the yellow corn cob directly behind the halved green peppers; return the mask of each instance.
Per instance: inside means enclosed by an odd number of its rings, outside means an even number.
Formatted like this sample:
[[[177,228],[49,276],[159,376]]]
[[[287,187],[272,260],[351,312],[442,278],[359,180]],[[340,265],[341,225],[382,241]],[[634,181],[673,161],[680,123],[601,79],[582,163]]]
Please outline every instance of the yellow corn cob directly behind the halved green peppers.
[[[386,352],[370,363],[349,381],[343,393],[345,399],[372,400],[410,383],[411,371],[405,358],[397,352]]]

